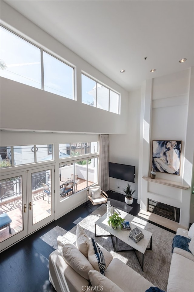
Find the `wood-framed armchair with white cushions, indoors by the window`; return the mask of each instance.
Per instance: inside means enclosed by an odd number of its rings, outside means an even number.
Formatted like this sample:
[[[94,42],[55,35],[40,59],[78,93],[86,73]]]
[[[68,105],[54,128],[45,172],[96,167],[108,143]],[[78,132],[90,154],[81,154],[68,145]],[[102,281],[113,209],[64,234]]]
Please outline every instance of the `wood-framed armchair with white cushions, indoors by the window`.
[[[88,202],[88,199],[90,203]],[[100,186],[92,186],[89,187],[86,192],[86,203],[92,210],[92,206],[98,205],[98,204],[105,204],[107,203],[108,195],[102,191]],[[90,206],[91,205],[91,206]]]

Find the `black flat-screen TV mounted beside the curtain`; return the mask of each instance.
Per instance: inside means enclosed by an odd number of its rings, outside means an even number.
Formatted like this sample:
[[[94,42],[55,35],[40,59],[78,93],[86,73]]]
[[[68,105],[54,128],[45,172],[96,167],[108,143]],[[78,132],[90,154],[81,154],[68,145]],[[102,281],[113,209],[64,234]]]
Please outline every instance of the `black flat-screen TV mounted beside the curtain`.
[[[126,182],[135,182],[135,166],[109,162],[109,176]]]

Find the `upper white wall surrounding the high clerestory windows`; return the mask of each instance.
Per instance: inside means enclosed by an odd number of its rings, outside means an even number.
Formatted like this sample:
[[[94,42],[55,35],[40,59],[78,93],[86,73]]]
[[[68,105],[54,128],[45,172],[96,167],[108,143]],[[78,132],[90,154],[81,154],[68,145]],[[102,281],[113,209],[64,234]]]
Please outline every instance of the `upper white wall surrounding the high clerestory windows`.
[[[82,133],[127,132],[128,92],[38,26],[1,3],[1,23],[75,67],[75,100],[1,78],[1,128]],[[120,115],[82,103],[81,72],[121,94]]]

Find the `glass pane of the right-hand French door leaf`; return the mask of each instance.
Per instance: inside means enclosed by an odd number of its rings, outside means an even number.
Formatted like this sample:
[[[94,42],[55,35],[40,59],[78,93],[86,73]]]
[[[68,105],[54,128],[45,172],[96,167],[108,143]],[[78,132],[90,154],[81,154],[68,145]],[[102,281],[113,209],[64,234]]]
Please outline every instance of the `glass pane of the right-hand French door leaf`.
[[[32,177],[32,223],[33,225],[52,214],[51,169],[34,172]],[[29,207],[30,208],[30,207]]]

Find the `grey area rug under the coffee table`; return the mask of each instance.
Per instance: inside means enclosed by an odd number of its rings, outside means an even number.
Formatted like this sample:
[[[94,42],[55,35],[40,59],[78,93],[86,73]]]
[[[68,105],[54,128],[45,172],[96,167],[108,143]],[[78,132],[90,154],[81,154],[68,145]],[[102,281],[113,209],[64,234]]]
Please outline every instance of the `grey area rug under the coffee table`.
[[[93,211],[92,215],[90,214],[79,222],[79,225],[85,229],[85,232],[89,237],[94,238],[94,223],[105,212],[106,206],[101,205],[98,209]],[[152,232],[152,250],[147,250],[144,254],[144,272],[142,272],[134,252],[114,252],[112,240],[110,237],[96,237],[95,241],[107,249],[112,254],[113,258],[120,259],[122,262],[126,263],[128,266],[134,269],[137,273],[149,280],[153,285],[166,291],[172,258],[171,251],[174,234],[140,218],[134,217],[132,215],[130,216],[134,224]],[[75,226],[68,232],[64,230],[65,237],[67,237],[73,243],[75,243],[76,228],[77,227]],[[99,227],[96,228],[96,231],[97,234],[106,233],[106,231]],[[129,249],[128,245],[118,240],[118,249],[127,248]],[[137,252],[137,255],[141,260],[142,254]]]

